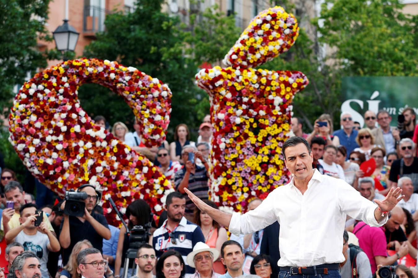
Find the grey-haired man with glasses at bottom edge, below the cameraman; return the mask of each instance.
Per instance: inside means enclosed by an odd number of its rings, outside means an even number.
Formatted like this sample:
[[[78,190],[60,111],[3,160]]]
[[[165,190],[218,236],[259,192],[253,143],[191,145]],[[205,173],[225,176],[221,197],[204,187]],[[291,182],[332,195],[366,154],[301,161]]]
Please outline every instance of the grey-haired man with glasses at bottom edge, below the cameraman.
[[[103,278],[106,271],[106,261],[96,248],[81,250],[77,255],[77,265],[82,278]]]

